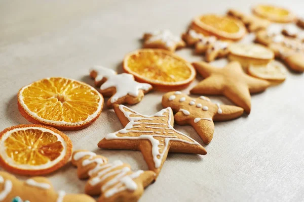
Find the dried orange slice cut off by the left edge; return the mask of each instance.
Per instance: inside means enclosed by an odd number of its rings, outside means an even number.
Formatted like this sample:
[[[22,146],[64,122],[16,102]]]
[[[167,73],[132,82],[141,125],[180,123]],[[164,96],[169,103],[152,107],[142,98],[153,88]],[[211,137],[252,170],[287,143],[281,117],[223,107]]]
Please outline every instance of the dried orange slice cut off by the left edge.
[[[18,125],[0,133],[0,164],[13,173],[51,173],[65,165],[71,153],[71,140],[48,126]]]

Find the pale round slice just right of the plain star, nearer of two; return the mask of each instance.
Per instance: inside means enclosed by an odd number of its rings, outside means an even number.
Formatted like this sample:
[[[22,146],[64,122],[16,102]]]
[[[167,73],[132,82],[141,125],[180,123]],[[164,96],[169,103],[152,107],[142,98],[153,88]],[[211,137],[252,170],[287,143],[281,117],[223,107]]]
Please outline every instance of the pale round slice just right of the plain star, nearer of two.
[[[286,79],[284,65],[271,61],[267,65],[249,65],[248,74],[271,82],[283,82]]]

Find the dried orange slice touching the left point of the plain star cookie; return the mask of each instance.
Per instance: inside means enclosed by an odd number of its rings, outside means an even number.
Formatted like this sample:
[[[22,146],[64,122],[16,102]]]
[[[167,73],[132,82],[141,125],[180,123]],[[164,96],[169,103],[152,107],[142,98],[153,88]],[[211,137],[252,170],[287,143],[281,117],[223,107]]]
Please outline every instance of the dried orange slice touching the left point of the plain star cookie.
[[[178,90],[187,87],[195,78],[194,67],[179,56],[163,49],[139,49],[129,53],[124,71],[139,82],[158,90]]]

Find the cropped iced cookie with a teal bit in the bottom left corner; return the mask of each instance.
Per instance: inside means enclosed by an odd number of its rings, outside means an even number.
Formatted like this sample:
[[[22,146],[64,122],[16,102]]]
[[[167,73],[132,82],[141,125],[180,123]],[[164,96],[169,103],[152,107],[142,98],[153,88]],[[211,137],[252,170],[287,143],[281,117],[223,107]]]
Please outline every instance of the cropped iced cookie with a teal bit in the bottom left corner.
[[[15,176],[0,171],[0,201],[2,202],[95,202],[86,194],[66,194],[65,191],[55,191],[50,181],[45,177],[33,177],[19,181]]]

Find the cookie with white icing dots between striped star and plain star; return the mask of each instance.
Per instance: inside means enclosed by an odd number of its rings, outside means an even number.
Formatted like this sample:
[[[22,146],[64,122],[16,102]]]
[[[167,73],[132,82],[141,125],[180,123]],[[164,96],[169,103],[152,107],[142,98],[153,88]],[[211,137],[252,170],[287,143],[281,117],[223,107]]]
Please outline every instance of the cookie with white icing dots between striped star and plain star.
[[[171,107],[176,113],[174,120],[179,125],[191,125],[208,144],[213,137],[213,121],[227,121],[242,116],[240,107],[211,103],[205,96],[192,98],[180,91],[168,92],[163,95],[164,108]]]

